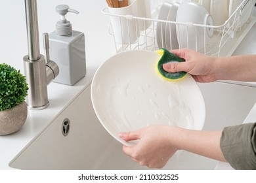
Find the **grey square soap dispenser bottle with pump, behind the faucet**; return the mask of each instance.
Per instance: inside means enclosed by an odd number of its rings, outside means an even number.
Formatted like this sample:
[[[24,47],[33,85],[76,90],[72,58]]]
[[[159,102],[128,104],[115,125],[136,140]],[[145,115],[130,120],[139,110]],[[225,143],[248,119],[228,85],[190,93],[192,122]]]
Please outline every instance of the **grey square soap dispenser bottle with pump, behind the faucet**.
[[[72,24],[66,20],[68,12],[78,14],[68,5],[58,5],[56,12],[60,14],[60,20],[56,22],[56,30],[49,34],[50,55],[60,73],[53,82],[74,85],[86,75],[85,63],[85,35],[72,30]]]

